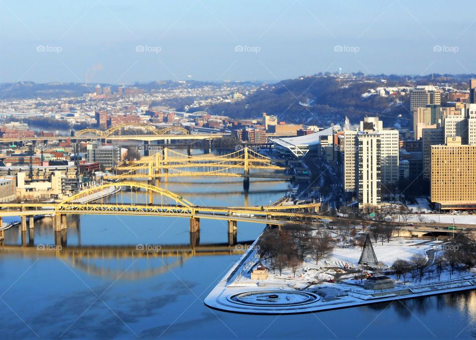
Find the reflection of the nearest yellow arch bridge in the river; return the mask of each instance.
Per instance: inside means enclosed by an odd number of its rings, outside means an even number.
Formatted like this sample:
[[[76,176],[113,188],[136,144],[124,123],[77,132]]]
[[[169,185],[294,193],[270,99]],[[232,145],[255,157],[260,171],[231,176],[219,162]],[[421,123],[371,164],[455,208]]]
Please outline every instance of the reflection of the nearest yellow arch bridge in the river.
[[[0,255],[58,258],[83,272],[113,279],[143,279],[180,267],[196,256],[241,255],[253,241],[239,247],[226,243],[133,246],[0,246]]]

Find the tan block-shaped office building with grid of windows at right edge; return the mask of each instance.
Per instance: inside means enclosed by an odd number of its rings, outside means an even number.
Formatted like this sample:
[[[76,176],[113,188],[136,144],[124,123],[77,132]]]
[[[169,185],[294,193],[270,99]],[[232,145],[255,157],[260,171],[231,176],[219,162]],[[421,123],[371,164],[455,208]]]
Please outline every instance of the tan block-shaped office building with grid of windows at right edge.
[[[476,208],[476,145],[462,145],[461,137],[431,146],[430,198],[438,209]]]

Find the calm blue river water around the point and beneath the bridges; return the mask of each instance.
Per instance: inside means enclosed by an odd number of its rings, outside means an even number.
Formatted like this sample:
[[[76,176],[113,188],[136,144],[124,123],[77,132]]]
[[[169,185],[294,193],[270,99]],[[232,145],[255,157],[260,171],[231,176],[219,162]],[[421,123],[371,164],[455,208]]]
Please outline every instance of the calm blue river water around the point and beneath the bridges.
[[[252,180],[245,197],[237,179],[174,179],[161,185],[194,204],[217,206],[269,204],[287,189],[285,182]],[[145,199],[143,193],[127,195]],[[68,246],[189,241],[186,218],[82,215],[79,224],[77,219],[68,217]],[[227,242],[226,221],[200,222],[200,244]],[[54,244],[51,223],[48,217],[36,222],[36,245]],[[238,243],[262,230],[260,224],[238,223]],[[19,245],[20,239],[12,228],[5,242]],[[0,252],[1,339],[468,339],[476,334],[475,292],[313,314],[242,315],[203,304],[239,256],[34,254]]]

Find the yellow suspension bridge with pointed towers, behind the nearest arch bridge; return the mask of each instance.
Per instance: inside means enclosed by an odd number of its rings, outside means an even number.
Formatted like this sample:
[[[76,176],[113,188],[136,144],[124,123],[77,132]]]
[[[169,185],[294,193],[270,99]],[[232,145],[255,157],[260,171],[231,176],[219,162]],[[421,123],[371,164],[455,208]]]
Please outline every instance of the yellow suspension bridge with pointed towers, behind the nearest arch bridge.
[[[287,167],[280,163],[283,163],[283,160],[268,158],[248,147],[220,156],[213,154],[191,156],[164,148],[133,164],[116,167],[119,174],[108,175],[106,178],[224,176],[291,179],[292,175],[283,173]]]

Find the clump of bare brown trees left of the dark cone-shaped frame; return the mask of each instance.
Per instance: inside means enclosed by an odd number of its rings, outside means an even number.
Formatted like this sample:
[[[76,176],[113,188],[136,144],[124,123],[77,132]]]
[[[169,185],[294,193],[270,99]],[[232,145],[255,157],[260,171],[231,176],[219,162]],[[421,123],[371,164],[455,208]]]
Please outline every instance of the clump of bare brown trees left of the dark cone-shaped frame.
[[[313,233],[305,226],[283,226],[280,229],[267,228],[258,242],[261,259],[269,260],[273,272],[279,274],[290,268],[296,276],[297,269],[307,256],[316,265],[334,249],[334,239],[325,231]]]

